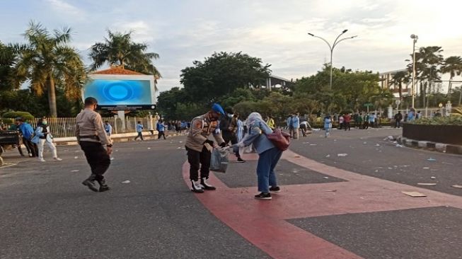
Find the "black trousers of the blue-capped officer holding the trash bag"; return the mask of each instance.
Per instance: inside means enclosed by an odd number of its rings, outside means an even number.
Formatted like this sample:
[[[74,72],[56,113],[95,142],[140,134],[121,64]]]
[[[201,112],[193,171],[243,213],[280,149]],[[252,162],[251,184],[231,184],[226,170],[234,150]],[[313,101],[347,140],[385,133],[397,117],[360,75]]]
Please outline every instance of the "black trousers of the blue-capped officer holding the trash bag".
[[[199,180],[199,168],[200,178],[209,178],[212,153],[205,146],[201,152],[189,148],[186,150],[187,161],[190,163],[190,180]]]

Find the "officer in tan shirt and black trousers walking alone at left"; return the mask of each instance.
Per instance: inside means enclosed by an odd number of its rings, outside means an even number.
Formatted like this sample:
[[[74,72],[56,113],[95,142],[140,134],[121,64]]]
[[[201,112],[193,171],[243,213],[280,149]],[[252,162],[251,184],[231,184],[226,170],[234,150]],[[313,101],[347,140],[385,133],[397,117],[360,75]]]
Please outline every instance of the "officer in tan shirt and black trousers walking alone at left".
[[[85,109],[76,117],[75,134],[90,165],[91,175],[82,184],[93,192],[105,192],[110,190],[103,175],[110,166],[112,140],[105,132],[101,115],[95,112],[98,100],[88,97],[84,103]],[[99,189],[96,188],[95,180],[100,185]]]

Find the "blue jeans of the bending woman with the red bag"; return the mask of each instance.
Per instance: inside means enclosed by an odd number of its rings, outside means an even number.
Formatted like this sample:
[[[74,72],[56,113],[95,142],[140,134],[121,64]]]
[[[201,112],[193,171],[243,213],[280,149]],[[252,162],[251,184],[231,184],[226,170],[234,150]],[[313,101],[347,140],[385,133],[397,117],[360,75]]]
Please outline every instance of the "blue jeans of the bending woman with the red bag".
[[[270,192],[270,186],[277,186],[275,167],[282,156],[277,147],[260,154],[257,164],[258,191]]]

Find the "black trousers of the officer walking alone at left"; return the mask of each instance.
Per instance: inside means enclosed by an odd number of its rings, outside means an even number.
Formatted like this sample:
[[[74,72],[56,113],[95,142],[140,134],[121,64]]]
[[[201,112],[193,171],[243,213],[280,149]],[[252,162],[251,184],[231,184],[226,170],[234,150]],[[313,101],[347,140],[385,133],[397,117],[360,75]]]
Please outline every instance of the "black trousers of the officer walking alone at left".
[[[96,175],[96,180],[103,180],[103,174],[108,171],[110,166],[108,151],[98,142],[79,142],[79,144],[90,165],[91,173]]]

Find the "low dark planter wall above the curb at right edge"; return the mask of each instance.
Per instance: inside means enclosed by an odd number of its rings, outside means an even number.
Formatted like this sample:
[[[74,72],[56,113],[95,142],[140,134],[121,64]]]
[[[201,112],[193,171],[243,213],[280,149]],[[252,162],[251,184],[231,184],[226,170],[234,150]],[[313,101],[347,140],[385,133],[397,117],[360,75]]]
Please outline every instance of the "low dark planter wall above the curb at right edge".
[[[404,123],[403,137],[417,141],[462,145],[462,126]]]

